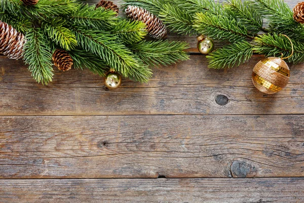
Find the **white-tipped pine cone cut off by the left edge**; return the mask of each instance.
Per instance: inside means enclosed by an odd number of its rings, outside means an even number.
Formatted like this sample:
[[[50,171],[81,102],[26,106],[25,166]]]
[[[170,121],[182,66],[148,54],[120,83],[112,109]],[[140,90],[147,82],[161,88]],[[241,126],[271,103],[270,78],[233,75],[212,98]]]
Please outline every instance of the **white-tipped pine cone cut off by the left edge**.
[[[0,53],[18,60],[23,57],[24,42],[24,35],[21,32],[0,21]]]

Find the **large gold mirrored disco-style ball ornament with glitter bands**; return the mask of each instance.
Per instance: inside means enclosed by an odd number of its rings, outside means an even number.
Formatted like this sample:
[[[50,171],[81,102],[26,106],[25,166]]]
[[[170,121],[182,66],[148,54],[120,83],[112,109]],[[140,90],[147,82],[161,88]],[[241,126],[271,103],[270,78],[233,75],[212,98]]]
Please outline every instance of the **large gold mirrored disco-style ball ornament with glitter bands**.
[[[269,57],[254,66],[252,82],[259,91],[274,94],[286,87],[289,77],[290,72],[286,62],[281,58]]]

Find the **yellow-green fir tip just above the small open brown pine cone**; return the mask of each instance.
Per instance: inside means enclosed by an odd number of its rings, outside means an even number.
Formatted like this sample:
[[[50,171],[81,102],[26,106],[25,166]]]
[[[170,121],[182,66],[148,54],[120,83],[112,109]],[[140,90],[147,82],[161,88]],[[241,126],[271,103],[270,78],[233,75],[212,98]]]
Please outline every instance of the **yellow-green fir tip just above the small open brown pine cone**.
[[[53,42],[61,48],[69,51],[75,48],[78,43],[74,33],[63,26],[64,21],[52,19],[50,22],[43,22],[42,29]]]

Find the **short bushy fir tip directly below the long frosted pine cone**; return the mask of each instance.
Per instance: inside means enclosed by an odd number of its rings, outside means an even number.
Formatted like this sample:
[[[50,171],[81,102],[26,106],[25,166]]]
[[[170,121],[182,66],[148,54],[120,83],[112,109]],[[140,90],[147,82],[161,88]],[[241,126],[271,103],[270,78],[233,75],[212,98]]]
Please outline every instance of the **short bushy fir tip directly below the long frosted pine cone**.
[[[125,44],[139,42],[147,35],[146,25],[141,21],[119,20],[113,29],[109,30]]]

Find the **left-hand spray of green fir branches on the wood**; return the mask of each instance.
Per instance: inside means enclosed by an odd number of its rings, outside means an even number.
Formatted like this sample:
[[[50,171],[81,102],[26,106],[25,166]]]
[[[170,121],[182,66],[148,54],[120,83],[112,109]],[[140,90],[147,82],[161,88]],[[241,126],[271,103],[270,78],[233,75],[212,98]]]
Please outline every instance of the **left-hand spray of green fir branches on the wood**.
[[[158,2],[157,0],[155,2]],[[102,7],[75,0],[0,0],[0,20],[25,35],[23,59],[37,82],[52,81],[52,54],[67,51],[75,69],[104,76],[110,69],[134,81],[147,82],[151,65],[187,60],[183,42],[142,41],[145,24],[117,17]]]

